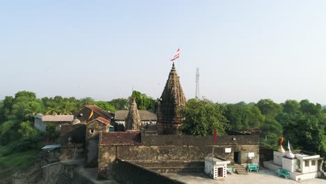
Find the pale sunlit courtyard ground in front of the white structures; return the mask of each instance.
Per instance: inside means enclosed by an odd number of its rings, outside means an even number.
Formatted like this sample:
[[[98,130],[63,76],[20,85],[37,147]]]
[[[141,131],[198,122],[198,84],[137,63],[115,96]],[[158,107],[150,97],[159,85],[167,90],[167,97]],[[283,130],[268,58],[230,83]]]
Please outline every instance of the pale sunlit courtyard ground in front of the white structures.
[[[176,179],[178,181],[183,181],[189,184],[201,183],[223,183],[223,184],[252,184],[252,183],[264,183],[264,184],[294,184],[294,183],[306,183],[306,184],[325,184],[326,180],[323,179],[308,179],[304,181],[293,181],[290,179],[285,179],[277,176],[270,169],[260,169],[258,172],[250,172],[248,175],[238,175],[238,174],[228,174],[226,178],[213,180],[208,178],[205,174],[164,174],[170,178]]]

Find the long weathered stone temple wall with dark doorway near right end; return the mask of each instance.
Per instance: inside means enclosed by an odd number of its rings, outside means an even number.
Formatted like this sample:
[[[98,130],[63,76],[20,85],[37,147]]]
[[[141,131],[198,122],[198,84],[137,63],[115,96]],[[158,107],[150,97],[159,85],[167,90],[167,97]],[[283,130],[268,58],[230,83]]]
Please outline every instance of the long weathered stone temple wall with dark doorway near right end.
[[[214,156],[230,160],[231,164],[236,162],[247,165],[259,162],[258,135],[223,135],[217,137],[217,142],[213,146],[212,136],[114,133],[115,135],[112,132],[102,132],[100,135],[99,178],[114,178],[117,158],[153,163],[166,161],[166,167],[169,167],[171,160],[184,160],[185,162],[201,160],[203,162],[205,157],[212,156],[212,147],[214,147]],[[125,139],[125,137],[128,138]]]

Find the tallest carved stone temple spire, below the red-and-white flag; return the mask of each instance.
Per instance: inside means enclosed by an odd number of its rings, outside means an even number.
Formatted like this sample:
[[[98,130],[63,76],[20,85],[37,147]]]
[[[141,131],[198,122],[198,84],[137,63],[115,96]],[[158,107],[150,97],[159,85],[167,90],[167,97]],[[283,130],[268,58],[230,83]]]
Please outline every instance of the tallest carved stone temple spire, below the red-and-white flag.
[[[175,134],[183,116],[180,109],[185,107],[186,99],[174,63],[161,98],[157,102],[157,132],[160,135]]]

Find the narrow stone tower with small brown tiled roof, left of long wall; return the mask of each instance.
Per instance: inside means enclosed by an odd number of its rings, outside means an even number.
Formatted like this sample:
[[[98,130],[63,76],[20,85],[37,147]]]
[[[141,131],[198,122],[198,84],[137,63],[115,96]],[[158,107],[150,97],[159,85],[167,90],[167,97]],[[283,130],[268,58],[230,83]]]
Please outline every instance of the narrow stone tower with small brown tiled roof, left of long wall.
[[[86,165],[96,167],[98,165],[98,139],[100,132],[109,132],[110,121],[98,117],[86,123]]]

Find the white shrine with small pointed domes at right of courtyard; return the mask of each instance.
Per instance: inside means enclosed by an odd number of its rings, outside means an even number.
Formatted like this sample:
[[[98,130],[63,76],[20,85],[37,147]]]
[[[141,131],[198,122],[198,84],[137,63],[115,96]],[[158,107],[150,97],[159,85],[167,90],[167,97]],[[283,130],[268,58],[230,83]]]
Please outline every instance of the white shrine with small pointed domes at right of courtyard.
[[[289,171],[289,178],[295,181],[302,181],[320,176],[318,160],[323,160],[320,155],[315,155],[306,151],[288,151],[282,147],[283,137],[278,151],[274,151],[274,159],[264,162],[264,167],[279,172],[280,169]]]

